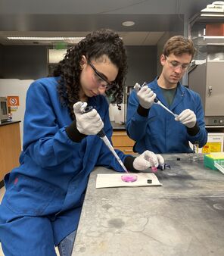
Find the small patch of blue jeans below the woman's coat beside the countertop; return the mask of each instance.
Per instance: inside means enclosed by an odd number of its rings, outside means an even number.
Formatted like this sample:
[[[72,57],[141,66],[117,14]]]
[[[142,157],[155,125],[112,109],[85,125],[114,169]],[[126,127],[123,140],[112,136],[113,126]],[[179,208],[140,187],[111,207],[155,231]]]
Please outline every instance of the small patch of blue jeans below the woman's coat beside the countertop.
[[[71,256],[73,244],[76,238],[76,230],[65,237],[58,245],[58,251],[61,256]]]

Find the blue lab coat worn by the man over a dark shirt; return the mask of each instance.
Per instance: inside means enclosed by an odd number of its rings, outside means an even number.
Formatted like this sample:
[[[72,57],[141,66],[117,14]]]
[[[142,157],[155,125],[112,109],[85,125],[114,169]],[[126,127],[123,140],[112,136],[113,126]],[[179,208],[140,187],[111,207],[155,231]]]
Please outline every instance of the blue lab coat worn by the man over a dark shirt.
[[[157,94],[157,98],[163,105],[169,108],[163,97],[163,92],[157,84],[157,78],[149,83],[148,87]],[[200,128],[195,136],[190,136],[186,126],[177,122],[173,115],[160,105],[152,105],[148,117],[142,117],[137,112],[138,104],[137,94],[135,90],[132,90],[127,108],[126,130],[129,137],[135,140],[135,151],[138,153],[145,150],[154,151],[157,154],[187,153],[192,151],[189,142],[199,142],[199,147],[206,144],[207,131],[205,130],[204,111],[198,93],[178,83],[176,95],[169,108],[175,114],[180,114],[187,108],[194,111]]]

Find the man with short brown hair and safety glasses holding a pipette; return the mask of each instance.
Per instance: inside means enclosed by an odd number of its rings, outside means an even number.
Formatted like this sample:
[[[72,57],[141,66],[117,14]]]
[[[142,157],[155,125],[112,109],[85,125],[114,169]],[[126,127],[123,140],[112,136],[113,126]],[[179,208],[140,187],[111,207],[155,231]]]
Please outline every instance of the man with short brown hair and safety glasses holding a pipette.
[[[173,36],[163,47],[162,73],[147,86],[132,91],[127,108],[126,130],[135,140],[134,151],[188,153],[189,142],[203,147],[207,142],[204,111],[198,93],[182,86],[179,80],[194,57],[191,39]],[[137,84],[138,85],[138,84]],[[160,105],[176,114],[174,117]]]

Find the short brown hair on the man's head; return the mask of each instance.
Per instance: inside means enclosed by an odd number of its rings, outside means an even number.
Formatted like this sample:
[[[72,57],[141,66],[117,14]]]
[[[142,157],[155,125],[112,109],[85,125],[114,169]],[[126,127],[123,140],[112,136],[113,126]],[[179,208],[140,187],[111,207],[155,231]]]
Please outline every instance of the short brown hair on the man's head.
[[[171,37],[163,47],[163,55],[169,56],[173,55],[182,55],[188,53],[191,55],[191,59],[194,57],[194,43],[191,39],[188,39],[184,36],[173,36]]]

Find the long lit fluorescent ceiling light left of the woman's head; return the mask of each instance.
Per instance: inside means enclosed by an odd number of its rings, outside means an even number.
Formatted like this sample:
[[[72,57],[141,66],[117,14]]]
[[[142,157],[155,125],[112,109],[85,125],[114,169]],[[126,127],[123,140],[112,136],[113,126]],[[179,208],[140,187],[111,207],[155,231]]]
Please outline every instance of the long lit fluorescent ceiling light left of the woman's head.
[[[66,42],[79,42],[85,37],[61,37],[61,36],[8,36],[9,40],[31,40],[31,41],[66,41]]]

